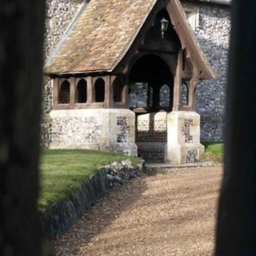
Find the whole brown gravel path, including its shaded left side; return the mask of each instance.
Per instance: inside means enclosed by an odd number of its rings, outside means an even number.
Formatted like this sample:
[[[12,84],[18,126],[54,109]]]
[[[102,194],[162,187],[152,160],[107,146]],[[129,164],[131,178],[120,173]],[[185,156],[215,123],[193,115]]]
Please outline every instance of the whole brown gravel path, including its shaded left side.
[[[161,171],[99,200],[52,255],[212,255],[222,167]]]

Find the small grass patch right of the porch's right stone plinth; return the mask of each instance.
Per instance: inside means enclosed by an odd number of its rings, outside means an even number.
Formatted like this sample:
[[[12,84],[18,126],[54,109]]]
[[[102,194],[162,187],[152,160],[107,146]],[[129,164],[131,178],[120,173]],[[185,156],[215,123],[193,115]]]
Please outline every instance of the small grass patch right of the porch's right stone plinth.
[[[222,142],[202,142],[205,147],[204,161],[223,162],[223,146]]]

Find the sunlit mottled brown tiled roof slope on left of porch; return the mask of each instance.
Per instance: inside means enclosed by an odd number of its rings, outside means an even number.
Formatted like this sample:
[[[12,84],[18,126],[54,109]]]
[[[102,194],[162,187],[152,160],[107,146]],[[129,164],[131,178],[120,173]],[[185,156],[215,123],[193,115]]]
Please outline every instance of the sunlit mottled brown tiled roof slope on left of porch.
[[[111,71],[157,0],[91,0],[47,61],[44,73]]]

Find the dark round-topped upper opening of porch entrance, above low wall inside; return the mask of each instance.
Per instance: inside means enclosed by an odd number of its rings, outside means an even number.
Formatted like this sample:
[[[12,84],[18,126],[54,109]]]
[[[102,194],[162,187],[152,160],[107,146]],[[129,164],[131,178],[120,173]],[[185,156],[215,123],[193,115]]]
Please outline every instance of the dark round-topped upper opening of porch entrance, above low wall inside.
[[[170,90],[161,95],[160,89],[167,85]],[[164,99],[163,99],[164,98]],[[155,54],[147,54],[138,59],[132,66],[129,76],[129,107],[136,111],[143,108],[146,112],[157,112],[161,109],[172,111],[173,76],[166,62]]]

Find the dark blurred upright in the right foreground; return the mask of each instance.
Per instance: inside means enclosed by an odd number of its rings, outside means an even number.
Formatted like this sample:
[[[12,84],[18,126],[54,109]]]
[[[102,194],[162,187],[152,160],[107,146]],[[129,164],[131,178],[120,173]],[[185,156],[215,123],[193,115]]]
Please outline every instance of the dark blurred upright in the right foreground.
[[[256,255],[256,1],[233,0],[217,256]]]

